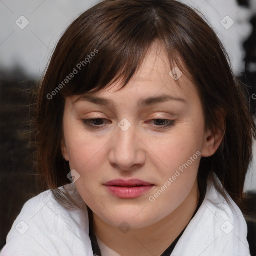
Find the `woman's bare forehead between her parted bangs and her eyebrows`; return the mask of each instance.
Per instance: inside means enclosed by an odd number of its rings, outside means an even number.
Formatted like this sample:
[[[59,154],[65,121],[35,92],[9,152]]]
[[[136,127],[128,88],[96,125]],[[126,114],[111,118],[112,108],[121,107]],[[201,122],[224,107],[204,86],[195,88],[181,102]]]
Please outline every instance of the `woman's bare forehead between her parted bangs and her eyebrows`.
[[[113,102],[118,101],[118,98],[126,100],[127,97],[130,97],[133,100],[139,100],[143,105],[150,100],[153,101],[152,97],[160,95],[167,95],[170,100],[172,100],[172,97],[183,102],[193,99],[191,93],[198,95],[195,84],[177,66],[170,64],[165,47],[157,41],[148,49],[140,68],[125,87],[121,88],[121,85],[120,81],[116,81],[98,92],[88,92],[86,94],[108,98],[109,105],[113,105]],[[73,97],[75,101],[80,98],[86,100],[86,94]],[[143,97],[148,100],[142,100]],[[95,98],[88,101],[107,104],[106,101]]]

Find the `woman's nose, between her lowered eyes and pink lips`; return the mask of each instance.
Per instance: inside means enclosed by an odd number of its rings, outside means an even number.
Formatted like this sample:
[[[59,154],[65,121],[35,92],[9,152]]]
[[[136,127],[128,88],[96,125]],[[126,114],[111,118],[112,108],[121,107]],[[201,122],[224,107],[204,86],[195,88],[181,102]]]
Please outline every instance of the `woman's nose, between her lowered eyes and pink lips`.
[[[116,127],[117,134],[111,140],[109,161],[120,170],[130,171],[139,168],[145,162],[145,145],[139,138],[134,125],[127,130]]]

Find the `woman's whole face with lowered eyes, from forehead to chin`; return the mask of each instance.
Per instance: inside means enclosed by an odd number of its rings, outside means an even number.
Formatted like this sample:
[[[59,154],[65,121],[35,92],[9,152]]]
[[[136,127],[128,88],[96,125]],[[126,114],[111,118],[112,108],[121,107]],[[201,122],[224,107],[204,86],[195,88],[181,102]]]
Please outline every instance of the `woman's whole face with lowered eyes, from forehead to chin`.
[[[97,100],[66,98],[63,156],[85,203],[113,226],[156,223],[196,184],[209,132],[196,86],[170,71],[164,48],[154,43],[121,90],[116,82],[91,95]]]

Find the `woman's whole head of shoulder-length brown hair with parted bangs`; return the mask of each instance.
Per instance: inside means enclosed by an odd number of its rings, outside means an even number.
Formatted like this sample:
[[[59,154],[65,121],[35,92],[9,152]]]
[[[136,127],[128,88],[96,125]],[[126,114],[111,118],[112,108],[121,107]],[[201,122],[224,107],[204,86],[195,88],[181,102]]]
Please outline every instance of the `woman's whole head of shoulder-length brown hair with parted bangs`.
[[[102,1],[75,19],[57,43],[35,99],[33,141],[38,172],[59,201],[56,188],[70,183],[69,165],[60,149],[65,97],[96,92],[117,80],[124,87],[155,40],[166,48],[170,63],[198,87],[206,128],[222,128],[224,133],[216,153],[201,159],[201,193],[207,178],[217,187],[215,173],[241,205],[255,137],[245,90],[212,28],[200,14],[175,0]],[[74,69],[78,72],[67,79]],[[220,125],[221,112],[225,127]]]

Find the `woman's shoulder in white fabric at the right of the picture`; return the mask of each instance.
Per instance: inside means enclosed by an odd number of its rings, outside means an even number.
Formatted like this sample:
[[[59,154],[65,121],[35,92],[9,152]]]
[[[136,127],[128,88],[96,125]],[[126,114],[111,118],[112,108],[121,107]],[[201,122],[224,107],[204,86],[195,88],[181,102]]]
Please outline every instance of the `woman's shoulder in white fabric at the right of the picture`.
[[[246,221],[226,195],[228,200],[212,184],[207,185],[204,201],[177,243],[174,256],[250,255]]]

